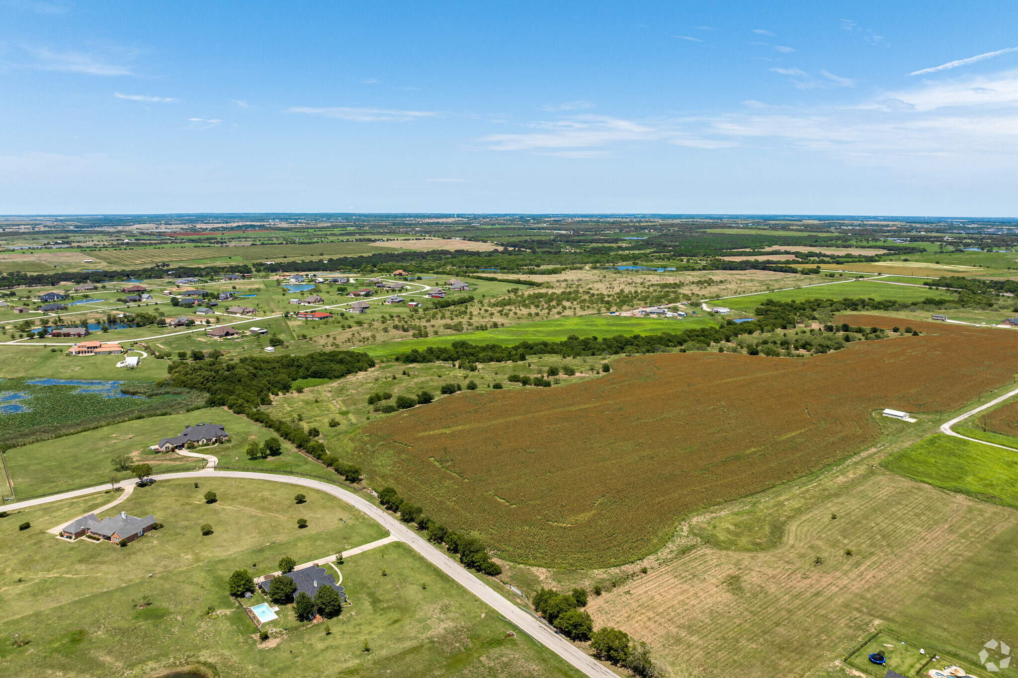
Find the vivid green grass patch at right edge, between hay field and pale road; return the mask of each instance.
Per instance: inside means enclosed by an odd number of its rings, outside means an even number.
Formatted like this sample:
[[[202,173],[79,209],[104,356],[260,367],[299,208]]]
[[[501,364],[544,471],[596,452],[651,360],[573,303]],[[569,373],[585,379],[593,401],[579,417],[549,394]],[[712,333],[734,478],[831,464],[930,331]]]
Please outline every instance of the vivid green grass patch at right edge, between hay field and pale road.
[[[892,454],[882,466],[952,492],[1018,508],[1018,452],[938,433]]]

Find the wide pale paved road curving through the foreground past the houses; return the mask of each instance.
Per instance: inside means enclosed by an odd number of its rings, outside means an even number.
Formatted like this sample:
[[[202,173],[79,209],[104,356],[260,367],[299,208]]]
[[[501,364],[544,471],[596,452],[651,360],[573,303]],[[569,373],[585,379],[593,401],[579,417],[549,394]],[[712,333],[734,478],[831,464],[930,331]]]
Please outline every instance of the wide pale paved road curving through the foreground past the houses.
[[[326,492],[334,497],[338,497],[339,499],[342,499],[348,504],[366,513],[382,527],[389,530],[389,533],[396,537],[399,541],[404,542],[407,546],[419,553],[440,570],[451,576],[454,580],[458,581],[464,589],[491,607],[495,608],[500,615],[528,633],[531,637],[547,646],[566,662],[576,667],[585,675],[590,676],[591,678],[618,678],[618,674],[614,673],[600,662],[586,655],[586,653],[573,645],[563,636],[555,633],[547,624],[539,621],[528,612],[524,612],[511,601],[493,591],[471,571],[464,568],[457,561],[446,555],[444,551],[440,551],[434,544],[421,537],[420,533],[407,528],[404,523],[400,522],[382,508],[376,506],[353,492],[336,487],[335,485],[330,485],[329,483],[312,480],[309,478],[296,478],[275,474],[251,473],[246,471],[215,471],[213,468],[190,473],[162,474],[153,476],[153,478],[157,480],[177,480],[181,478],[209,478],[211,476],[216,478],[222,477],[268,480],[277,483],[287,483],[289,485],[299,485],[301,487],[308,487],[314,490]],[[84,490],[76,490],[74,492],[66,492],[64,494],[57,494],[50,497],[40,497],[39,499],[22,501],[5,506],[4,508],[6,510],[12,510],[27,508],[30,506],[39,506],[53,501],[60,501],[71,497],[80,497],[95,492],[102,492],[105,489],[105,485],[100,485],[98,487]]]

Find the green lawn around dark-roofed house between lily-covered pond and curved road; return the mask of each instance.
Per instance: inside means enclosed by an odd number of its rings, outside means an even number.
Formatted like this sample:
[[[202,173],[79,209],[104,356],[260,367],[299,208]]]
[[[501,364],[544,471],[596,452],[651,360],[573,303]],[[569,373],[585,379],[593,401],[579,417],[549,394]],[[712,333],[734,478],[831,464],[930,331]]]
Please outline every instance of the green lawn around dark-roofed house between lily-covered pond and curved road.
[[[244,453],[247,443],[251,440],[261,442],[274,433],[227,410],[210,408],[181,415],[137,419],[10,449],[6,458],[14,479],[14,492],[19,500],[24,500],[101,485],[116,473],[110,459],[120,454],[152,464],[156,473],[194,469],[199,459],[175,452],[154,452],[149,445],[156,444],[160,438],[178,435],[187,424],[202,422],[222,424],[230,434],[228,443],[197,450],[203,454],[216,455],[223,466],[250,471],[293,471],[319,476],[332,474],[300,454],[285,440],[281,441],[283,453],[279,456],[248,459]],[[129,472],[117,475],[121,479],[130,477]]]

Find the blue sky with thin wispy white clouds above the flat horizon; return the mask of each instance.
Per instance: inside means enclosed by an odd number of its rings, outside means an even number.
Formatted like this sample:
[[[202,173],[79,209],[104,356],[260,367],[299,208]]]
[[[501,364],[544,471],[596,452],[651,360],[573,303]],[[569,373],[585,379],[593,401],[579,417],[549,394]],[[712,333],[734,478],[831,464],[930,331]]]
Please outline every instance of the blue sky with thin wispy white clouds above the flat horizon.
[[[0,213],[1018,215],[1015,17],[0,0]]]

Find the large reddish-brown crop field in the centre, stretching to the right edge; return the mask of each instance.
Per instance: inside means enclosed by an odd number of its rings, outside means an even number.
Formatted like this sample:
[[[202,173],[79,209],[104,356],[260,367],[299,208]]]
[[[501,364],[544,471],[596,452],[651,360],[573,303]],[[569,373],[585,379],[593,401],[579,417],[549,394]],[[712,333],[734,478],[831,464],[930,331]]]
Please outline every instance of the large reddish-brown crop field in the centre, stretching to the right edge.
[[[911,324],[929,333],[802,359],[656,354],[577,384],[464,391],[361,429],[348,453],[373,486],[476,531],[508,560],[628,562],[690,510],[863,449],[880,435],[873,411],[950,412],[1018,371],[1008,332]]]

